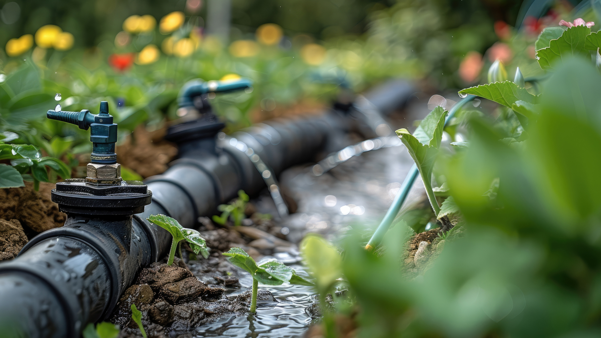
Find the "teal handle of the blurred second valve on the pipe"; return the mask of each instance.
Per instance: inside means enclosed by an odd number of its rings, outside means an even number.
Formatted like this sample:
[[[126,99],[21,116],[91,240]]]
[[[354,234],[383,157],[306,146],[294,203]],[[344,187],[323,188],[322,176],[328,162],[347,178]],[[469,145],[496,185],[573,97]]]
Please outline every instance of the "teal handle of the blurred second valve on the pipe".
[[[227,93],[249,87],[252,87],[252,81],[249,78],[227,81],[212,80],[207,82],[196,79],[184,85],[177,100],[180,107],[194,106],[194,97],[207,93]]]

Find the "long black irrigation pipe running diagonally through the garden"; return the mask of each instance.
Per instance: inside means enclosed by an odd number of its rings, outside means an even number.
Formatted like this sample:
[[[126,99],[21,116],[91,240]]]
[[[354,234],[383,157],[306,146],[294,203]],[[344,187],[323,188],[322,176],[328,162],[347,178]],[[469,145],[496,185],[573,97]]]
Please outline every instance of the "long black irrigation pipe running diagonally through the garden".
[[[144,183],[57,183],[52,198],[67,213],[65,225],[35,236],[16,259],[0,263],[2,337],[78,338],[87,323],[111,315],[142,266],[167,253],[171,236],[148,223],[149,215],[165,214],[194,227],[198,217],[212,215],[239,189],[249,194],[264,189],[267,175],[259,173],[252,155],[275,176],[291,165],[315,161],[319,153],[343,149],[350,144],[348,132],[365,129],[369,122],[351,107],[317,117],[266,121],[231,138],[216,138],[223,125],[210,114],[204,94],[215,90],[215,84],[192,85],[204,87],[186,86],[181,96],[189,96],[180,103],[191,114],[197,109],[197,115],[169,129],[166,138],[178,144],[179,159],[165,173]],[[409,87],[395,82],[373,103],[380,109],[394,108],[412,93]],[[87,114],[71,115],[85,120]],[[240,149],[240,143],[253,154]],[[110,145],[105,150],[109,153]]]

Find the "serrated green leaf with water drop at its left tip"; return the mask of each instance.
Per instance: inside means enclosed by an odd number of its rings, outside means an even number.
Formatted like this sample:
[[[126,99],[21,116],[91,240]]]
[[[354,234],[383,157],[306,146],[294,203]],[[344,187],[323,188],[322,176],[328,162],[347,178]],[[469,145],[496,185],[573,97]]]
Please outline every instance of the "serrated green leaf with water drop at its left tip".
[[[522,100],[528,103],[536,103],[537,97],[528,93],[526,88],[517,87],[511,81],[494,82],[492,84],[478,85],[476,87],[466,88],[459,91],[459,94],[473,94],[484,99],[501,103],[501,105],[511,108],[513,103]]]

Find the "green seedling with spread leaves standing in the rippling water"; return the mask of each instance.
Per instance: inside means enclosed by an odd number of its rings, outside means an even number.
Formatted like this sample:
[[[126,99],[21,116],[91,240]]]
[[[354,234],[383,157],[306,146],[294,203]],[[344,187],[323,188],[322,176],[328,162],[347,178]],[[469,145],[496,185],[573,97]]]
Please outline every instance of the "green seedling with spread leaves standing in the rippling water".
[[[251,256],[241,248],[231,248],[225,256],[230,256],[229,260],[233,265],[245,269],[252,276],[252,298],[251,312],[257,312],[257,291],[258,283],[266,285],[280,285],[290,283],[297,285],[314,285],[308,280],[296,274],[293,268],[284,265],[284,263],[269,261],[257,265]]]

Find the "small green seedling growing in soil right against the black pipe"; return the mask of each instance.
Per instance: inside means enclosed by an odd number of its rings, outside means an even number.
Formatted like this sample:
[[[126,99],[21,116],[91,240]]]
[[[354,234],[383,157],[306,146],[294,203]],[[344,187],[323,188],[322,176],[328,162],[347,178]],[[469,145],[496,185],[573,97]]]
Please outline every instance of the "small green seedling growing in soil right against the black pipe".
[[[194,251],[195,254],[198,254],[200,252],[201,254],[203,254],[204,258],[209,257],[207,243],[204,241],[204,238],[200,236],[200,233],[196,230],[186,229],[185,227],[180,226],[180,224],[173,218],[162,214],[150,215],[150,217],[148,217],[147,220],[167,230],[169,233],[171,233],[171,236],[173,236],[173,241],[171,242],[171,251],[169,251],[169,259],[167,260],[167,265],[173,264],[177,244],[184,239],[188,241],[190,247],[192,248],[192,251]]]

